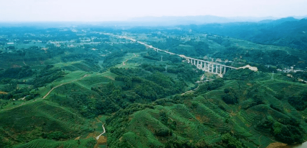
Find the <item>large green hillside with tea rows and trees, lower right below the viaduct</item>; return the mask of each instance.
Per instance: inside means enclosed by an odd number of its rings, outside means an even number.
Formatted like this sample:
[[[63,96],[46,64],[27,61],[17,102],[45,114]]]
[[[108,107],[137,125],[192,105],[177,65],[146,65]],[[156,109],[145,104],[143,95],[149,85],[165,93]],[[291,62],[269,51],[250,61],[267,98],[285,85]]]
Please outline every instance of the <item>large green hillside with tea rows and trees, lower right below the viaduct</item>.
[[[199,85],[192,93],[156,100],[150,106],[128,106],[107,121],[108,136],[112,138],[108,143],[114,148],[151,148],[162,144],[171,147],[181,141],[199,148],[200,143],[207,147],[230,147],[223,140],[226,133],[237,137],[240,147],[265,148],[270,143],[285,140],[277,133],[277,127],[262,127],[266,120],[299,131],[292,133],[297,134],[296,138],[287,138],[297,142],[306,140],[305,113],[297,111],[287,99],[293,91],[307,90],[307,85],[270,80],[266,73],[253,75],[252,81],[226,80],[223,86],[211,91],[207,88],[214,84],[203,84],[206,86]],[[233,92],[225,93],[226,89]],[[225,95],[229,93],[234,93],[238,103],[225,103]],[[278,98],[279,94],[284,98]],[[130,110],[139,111],[131,113]],[[118,122],[121,124],[116,125]]]

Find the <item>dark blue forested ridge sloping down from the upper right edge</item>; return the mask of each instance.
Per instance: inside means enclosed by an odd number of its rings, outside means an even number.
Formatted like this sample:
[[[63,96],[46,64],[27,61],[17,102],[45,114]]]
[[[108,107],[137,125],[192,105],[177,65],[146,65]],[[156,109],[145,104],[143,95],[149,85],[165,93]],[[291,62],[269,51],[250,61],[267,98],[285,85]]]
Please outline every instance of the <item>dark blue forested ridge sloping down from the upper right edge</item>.
[[[283,18],[276,21],[211,23],[181,26],[195,32],[248,40],[260,44],[273,44],[307,50],[307,20]]]

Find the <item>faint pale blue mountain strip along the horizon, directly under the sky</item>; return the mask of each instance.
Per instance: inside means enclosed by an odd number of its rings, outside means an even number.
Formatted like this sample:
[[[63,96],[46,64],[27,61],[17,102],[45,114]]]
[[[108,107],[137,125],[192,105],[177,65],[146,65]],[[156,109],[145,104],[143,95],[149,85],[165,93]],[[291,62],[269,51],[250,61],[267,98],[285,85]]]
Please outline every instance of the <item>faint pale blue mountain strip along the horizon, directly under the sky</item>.
[[[131,18],[127,21],[96,21],[96,22],[82,22],[82,21],[47,21],[47,22],[0,22],[1,26],[44,26],[44,27],[69,27],[69,26],[174,26],[174,25],[190,25],[190,24],[210,24],[210,23],[231,23],[231,22],[260,22],[266,23],[271,21],[299,21],[307,19],[307,16],[292,16],[288,18],[276,17],[218,17],[218,16],[184,16],[184,17],[140,17]]]

